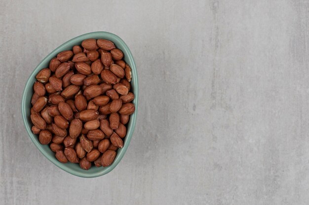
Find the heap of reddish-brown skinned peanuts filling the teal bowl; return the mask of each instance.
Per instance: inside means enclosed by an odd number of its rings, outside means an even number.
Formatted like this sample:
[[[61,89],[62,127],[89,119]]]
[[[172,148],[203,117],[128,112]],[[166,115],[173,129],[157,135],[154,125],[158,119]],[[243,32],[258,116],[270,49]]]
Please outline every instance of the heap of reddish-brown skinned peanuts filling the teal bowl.
[[[62,163],[109,166],[135,111],[131,68],[112,41],[86,39],[36,76],[32,131]]]

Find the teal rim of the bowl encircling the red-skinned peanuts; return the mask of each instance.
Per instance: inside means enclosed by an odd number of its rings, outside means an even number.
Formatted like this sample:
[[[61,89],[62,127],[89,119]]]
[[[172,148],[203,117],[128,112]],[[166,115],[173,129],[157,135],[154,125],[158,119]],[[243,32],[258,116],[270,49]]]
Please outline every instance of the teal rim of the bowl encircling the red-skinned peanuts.
[[[94,37],[94,36],[100,36],[100,37]],[[126,58],[128,58],[129,60],[126,60],[126,63],[130,63],[130,67],[131,67],[131,72],[132,72],[132,81],[134,81],[134,95],[135,95],[135,99],[133,101],[134,105],[135,105],[135,112],[133,115],[131,115],[130,117],[130,121],[128,123],[128,127],[127,127],[127,135],[125,137],[125,144],[121,149],[118,149],[117,151],[117,155],[116,158],[114,160],[114,162],[112,163],[112,165],[105,167],[102,170],[99,170],[98,172],[95,173],[82,173],[81,171],[77,171],[74,170],[68,166],[66,166],[66,164],[63,164],[61,162],[59,162],[55,157],[51,157],[49,153],[45,152],[44,148],[42,147],[42,145],[38,142],[38,140],[35,140],[35,134],[32,133],[31,127],[32,125],[29,125],[27,123],[27,115],[29,115],[29,113],[26,113],[26,105],[27,103],[30,102],[26,102],[26,95],[27,95],[27,90],[29,90],[29,87],[33,87],[33,78],[35,77],[35,75],[37,75],[37,73],[39,72],[41,67],[41,64],[45,63],[46,60],[50,61],[50,59],[54,58],[59,52],[64,51],[64,47],[70,46],[71,44],[74,44],[74,42],[76,41],[82,41],[84,39],[88,39],[88,38],[108,38],[108,39],[113,39],[112,41],[118,44],[121,44],[121,46],[123,47],[124,50],[122,50],[123,53],[127,54]],[[73,47],[74,45],[72,45]],[[129,62],[127,62],[129,61]],[[128,46],[126,45],[126,43],[116,34],[114,33],[110,33],[110,32],[106,32],[106,31],[96,31],[96,32],[89,32],[89,33],[85,33],[82,35],[79,35],[75,38],[72,38],[68,41],[66,41],[65,43],[63,43],[62,45],[60,45],[59,47],[57,47],[56,49],[54,49],[51,53],[49,53],[44,59],[42,59],[39,64],[36,66],[36,68],[32,71],[32,73],[30,74],[26,84],[25,84],[25,88],[23,90],[23,95],[22,95],[22,102],[21,102],[21,111],[22,111],[22,118],[23,118],[23,122],[24,125],[26,127],[27,133],[29,138],[31,139],[31,141],[33,142],[33,144],[39,149],[39,151],[50,161],[52,162],[54,165],[56,165],[58,168],[64,170],[67,173],[70,173],[72,175],[75,176],[80,176],[80,177],[85,177],[85,178],[92,178],[92,177],[97,177],[97,176],[103,176],[108,174],[109,172],[111,172],[121,161],[122,157],[124,156],[133,132],[134,132],[134,128],[135,128],[135,124],[136,124],[136,117],[137,117],[137,106],[138,105],[138,77],[137,77],[137,71],[136,71],[136,65],[133,59],[133,55],[130,51],[130,49],[128,48]],[[70,162],[68,162],[70,163]],[[82,170],[80,168],[80,170]]]

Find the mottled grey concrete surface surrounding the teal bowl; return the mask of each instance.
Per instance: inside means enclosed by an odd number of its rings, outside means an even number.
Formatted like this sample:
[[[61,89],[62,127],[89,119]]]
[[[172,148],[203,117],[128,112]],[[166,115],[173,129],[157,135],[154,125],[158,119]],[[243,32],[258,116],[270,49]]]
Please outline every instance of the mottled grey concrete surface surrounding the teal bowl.
[[[308,205],[309,1],[0,1],[0,204]],[[110,31],[140,98],[126,155],[85,179],[28,138],[26,80],[63,42]]]

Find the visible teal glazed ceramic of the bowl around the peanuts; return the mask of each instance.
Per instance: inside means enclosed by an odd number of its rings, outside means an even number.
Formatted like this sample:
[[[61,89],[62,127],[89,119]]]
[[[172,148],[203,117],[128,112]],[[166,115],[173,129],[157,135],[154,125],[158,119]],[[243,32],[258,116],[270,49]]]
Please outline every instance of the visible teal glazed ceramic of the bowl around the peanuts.
[[[135,99],[133,100],[133,103],[135,105],[135,113],[130,117],[130,120],[129,120],[128,126],[127,126],[127,135],[124,138],[123,147],[117,150],[117,155],[116,155],[116,158],[115,158],[113,164],[108,166],[108,167],[104,167],[104,168],[92,166],[89,170],[83,170],[79,167],[79,164],[74,164],[74,163],[70,163],[70,162],[63,164],[63,163],[59,162],[55,157],[55,153],[50,150],[48,145],[41,145],[39,143],[38,136],[33,134],[32,131],[31,131],[32,122],[31,122],[31,119],[30,119],[30,109],[32,107],[31,98],[32,98],[32,94],[33,94],[33,84],[36,81],[36,75],[38,74],[38,72],[42,68],[48,67],[49,61],[52,58],[56,57],[58,53],[65,51],[65,50],[72,50],[74,45],[81,45],[81,42],[84,39],[88,39],[88,38],[95,38],[95,39],[101,38],[101,39],[111,40],[111,41],[114,42],[116,47],[123,52],[124,60],[130,65],[131,70],[132,70],[131,87],[132,87],[133,93],[135,94]],[[21,110],[22,110],[22,117],[23,117],[23,120],[24,120],[24,124],[25,124],[26,130],[27,130],[27,133],[28,133],[30,139],[35,144],[35,146],[39,149],[39,151],[49,161],[51,161],[53,164],[55,164],[60,169],[66,171],[66,172],[68,172],[72,175],[90,178],[90,177],[97,177],[97,176],[106,175],[107,173],[111,172],[117,166],[117,164],[120,162],[120,160],[122,159],[123,155],[125,154],[128,146],[130,144],[132,134],[133,134],[133,131],[134,131],[136,116],[137,116],[137,105],[138,105],[137,72],[136,72],[136,66],[135,66],[135,63],[134,63],[133,56],[132,56],[128,46],[117,35],[115,35],[113,33],[109,33],[109,32],[98,31],[98,32],[86,33],[86,34],[77,36],[77,37],[65,42],[64,44],[62,44],[61,46],[56,48],[53,52],[51,52],[47,57],[45,57],[39,63],[39,65],[31,73],[31,75],[30,75],[30,77],[29,77],[29,79],[26,83],[26,86],[25,86],[25,89],[24,89],[24,92],[23,92],[23,97],[22,97],[22,103],[21,103],[22,109]],[[31,149],[32,147],[29,147],[29,148]]]

